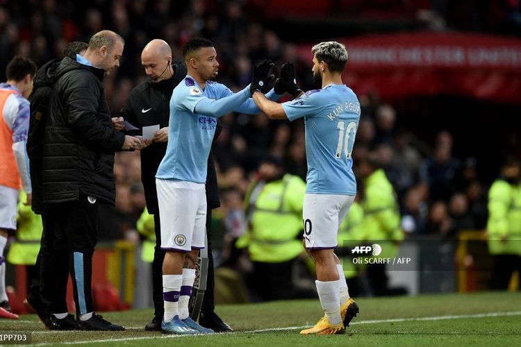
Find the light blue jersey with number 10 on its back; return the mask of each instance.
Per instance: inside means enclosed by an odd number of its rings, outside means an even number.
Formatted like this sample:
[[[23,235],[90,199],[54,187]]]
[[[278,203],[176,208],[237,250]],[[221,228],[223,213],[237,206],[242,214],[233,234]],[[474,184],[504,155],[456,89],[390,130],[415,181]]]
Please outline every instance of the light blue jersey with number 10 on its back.
[[[282,104],[290,121],[304,117],[306,193],[356,195],[351,154],[360,103],[345,85],[326,85]]]

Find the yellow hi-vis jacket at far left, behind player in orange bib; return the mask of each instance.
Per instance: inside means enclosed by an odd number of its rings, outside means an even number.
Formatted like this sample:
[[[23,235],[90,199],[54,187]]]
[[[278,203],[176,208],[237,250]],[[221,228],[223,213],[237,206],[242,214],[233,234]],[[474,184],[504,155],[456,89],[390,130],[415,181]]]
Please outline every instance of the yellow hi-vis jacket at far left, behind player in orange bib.
[[[15,242],[9,247],[7,261],[15,265],[34,265],[42,239],[42,217],[24,205],[26,194],[20,192]]]

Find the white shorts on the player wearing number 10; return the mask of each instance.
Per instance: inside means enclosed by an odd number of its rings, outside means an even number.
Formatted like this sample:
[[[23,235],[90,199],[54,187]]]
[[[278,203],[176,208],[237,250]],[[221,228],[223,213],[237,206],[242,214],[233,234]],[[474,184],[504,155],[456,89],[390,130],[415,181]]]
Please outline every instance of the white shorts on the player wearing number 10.
[[[354,201],[354,195],[304,194],[304,242],[306,249],[337,246],[338,227]]]

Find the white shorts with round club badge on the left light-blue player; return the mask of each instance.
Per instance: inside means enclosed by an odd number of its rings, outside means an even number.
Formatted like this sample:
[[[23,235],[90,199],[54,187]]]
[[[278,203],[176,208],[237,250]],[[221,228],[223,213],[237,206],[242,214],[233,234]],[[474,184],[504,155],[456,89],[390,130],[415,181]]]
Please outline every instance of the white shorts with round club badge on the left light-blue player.
[[[190,252],[204,248],[206,191],[203,183],[156,178],[161,249]]]

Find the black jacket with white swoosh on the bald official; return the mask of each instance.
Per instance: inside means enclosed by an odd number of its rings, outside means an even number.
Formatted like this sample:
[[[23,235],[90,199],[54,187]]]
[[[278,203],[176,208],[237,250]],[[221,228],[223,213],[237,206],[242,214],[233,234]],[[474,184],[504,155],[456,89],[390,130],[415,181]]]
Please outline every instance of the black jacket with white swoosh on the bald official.
[[[183,62],[174,61],[172,65],[174,67],[174,76],[172,78],[158,83],[147,81],[135,87],[126,98],[119,116],[140,129],[143,126],[155,124],[159,124],[159,128],[168,126],[172,92],[186,76],[186,67]],[[218,131],[219,128],[217,128]],[[217,135],[215,135],[216,137]],[[166,151],[166,142],[154,142],[151,146],[141,151],[141,180],[144,187],[144,196],[147,200],[147,209],[151,214],[159,211],[156,192],[156,172]],[[208,156],[206,199],[210,208],[220,206],[219,192],[217,191],[217,175],[215,174],[215,165],[211,151]]]

